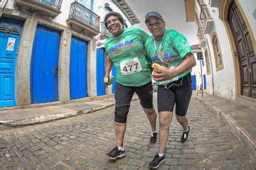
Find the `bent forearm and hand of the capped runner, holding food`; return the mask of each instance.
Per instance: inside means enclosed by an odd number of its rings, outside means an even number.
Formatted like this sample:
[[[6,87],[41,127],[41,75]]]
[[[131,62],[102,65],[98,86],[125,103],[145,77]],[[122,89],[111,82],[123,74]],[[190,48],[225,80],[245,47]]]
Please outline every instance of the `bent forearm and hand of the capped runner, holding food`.
[[[154,80],[165,81],[173,79],[174,77],[188,71],[188,69],[196,66],[195,57],[191,53],[188,53],[184,58],[185,60],[183,60],[183,62],[181,62],[181,64],[179,64],[175,69],[167,69],[166,67],[164,67],[164,69],[154,69]]]

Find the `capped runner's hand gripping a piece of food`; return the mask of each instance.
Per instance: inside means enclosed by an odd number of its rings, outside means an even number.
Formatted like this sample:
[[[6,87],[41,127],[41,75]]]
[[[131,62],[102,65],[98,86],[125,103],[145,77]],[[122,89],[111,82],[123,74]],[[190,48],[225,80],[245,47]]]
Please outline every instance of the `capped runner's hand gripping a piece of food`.
[[[176,72],[175,69],[167,69],[166,67],[163,67],[162,69],[154,69],[152,75],[155,81],[165,81],[176,77]]]

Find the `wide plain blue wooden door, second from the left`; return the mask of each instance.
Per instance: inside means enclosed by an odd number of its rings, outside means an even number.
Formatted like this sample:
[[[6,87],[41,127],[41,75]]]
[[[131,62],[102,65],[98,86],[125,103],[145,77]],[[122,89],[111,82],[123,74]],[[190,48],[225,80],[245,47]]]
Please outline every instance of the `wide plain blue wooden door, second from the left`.
[[[58,101],[60,31],[38,25],[31,60],[31,103]]]

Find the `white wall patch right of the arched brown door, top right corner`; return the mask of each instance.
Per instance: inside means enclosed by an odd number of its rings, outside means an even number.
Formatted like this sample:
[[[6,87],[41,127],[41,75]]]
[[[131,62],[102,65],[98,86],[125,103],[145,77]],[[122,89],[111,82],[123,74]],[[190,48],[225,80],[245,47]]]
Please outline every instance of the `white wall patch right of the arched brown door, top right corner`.
[[[245,16],[250,23],[252,33],[256,39],[256,18],[253,17],[252,13],[256,13],[256,1],[255,0],[239,0],[239,4],[242,6]],[[255,14],[256,15],[256,14]]]

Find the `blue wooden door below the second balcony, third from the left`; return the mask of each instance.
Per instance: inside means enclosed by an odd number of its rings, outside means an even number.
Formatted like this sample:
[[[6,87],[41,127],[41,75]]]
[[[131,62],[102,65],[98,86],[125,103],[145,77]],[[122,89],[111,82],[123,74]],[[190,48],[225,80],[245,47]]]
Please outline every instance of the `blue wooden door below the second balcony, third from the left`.
[[[70,52],[70,98],[85,98],[87,94],[88,42],[72,37]]]

